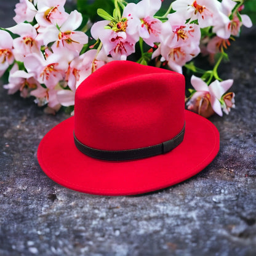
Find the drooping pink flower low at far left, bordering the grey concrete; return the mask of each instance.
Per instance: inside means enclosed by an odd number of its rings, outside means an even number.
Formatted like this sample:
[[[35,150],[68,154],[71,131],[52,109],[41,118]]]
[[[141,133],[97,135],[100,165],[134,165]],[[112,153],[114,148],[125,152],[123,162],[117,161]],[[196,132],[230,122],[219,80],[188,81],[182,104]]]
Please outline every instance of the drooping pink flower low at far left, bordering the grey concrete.
[[[8,89],[8,94],[15,94],[20,90],[20,96],[26,98],[30,95],[30,91],[36,89],[39,82],[33,77],[33,73],[26,73],[18,70],[17,63],[14,64],[9,74],[9,84],[4,85],[4,89]]]

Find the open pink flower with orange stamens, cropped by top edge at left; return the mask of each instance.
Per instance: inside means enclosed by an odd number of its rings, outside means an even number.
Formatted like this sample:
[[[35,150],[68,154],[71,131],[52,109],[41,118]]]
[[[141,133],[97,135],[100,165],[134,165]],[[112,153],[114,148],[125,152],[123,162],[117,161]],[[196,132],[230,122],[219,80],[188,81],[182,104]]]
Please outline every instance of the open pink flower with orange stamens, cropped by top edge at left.
[[[64,9],[65,2],[66,0],[38,1],[38,14],[36,14],[38,24],[42,27],[47,27],[51,24],[61,26],[68,18],[68,13]]]

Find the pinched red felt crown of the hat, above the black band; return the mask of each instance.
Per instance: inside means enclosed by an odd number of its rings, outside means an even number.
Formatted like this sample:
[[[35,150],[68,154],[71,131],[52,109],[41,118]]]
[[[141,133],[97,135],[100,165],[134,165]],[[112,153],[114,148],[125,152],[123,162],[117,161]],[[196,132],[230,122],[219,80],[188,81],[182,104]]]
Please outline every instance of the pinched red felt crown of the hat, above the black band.
[[[129,61],[106,64],[76,90],[74,134],[98,150],[130,150],[174,138],[185,122],[182,74]]]

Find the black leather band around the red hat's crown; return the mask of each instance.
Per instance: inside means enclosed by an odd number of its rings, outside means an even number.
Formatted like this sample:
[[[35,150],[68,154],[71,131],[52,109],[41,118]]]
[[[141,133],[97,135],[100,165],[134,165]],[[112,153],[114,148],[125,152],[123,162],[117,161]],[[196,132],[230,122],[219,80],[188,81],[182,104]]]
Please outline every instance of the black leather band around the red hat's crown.
[[[176,148],[183,141],[185,134],[185,124],[178,135],[176,135],[171,140],[162,142],[154,146],[146,146],[145,148],[135,148],[133,150],[97,150],[95,148],[90,148],[79,142],[79,140],[74,135],[74,144],[82,153],[90,156],[91,158],[97,158],[109,161],[123,161],[123,160],[133,160],[140,158],[148,158],[150,156],[157,156],[158,154],[165,154],[174,148]]]

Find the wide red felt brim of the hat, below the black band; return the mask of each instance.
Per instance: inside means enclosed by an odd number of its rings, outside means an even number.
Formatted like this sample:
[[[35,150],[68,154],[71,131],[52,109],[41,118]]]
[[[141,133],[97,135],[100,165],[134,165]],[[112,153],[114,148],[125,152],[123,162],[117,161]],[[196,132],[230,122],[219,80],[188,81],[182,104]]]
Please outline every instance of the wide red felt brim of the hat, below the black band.
[[[74,145],[74,117],[50,130],[38,147],[38,162],[55,182],[89,194],[131,195],[167,188],[198,174],[218,153],[217,128],[185,110],[183,142],[166,154],[134,161],[102,161]]]

